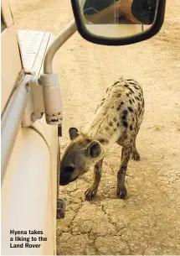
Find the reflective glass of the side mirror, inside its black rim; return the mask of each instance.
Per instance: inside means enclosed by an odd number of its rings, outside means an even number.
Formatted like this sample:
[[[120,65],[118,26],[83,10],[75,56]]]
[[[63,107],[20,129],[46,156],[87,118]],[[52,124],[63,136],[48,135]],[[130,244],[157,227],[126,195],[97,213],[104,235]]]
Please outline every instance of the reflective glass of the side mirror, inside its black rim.
[[[80,19],[90,34],[123,38],[150,29],[158,0],[78,0]]]

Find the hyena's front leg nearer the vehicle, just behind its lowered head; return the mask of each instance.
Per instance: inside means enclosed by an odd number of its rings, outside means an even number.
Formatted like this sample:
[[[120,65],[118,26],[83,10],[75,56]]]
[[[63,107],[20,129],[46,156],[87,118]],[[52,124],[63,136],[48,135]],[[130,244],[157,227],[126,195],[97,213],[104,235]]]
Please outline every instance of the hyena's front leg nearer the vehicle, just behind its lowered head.
[[[90,186],[90,188],[87,191],[85,191],[85,199],[88,201],[91,201],[96,197],[98,186],[100,184],[102,162],[103,162],[103,159],[101,159],[95,165],[93,184]]]

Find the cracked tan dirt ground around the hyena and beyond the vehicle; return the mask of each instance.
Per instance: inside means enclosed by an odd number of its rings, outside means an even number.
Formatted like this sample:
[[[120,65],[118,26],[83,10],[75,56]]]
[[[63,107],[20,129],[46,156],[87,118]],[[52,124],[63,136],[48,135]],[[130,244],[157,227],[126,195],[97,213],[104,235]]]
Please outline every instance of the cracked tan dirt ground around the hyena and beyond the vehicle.
[[[18,29],[58,34],[73,18],[70,1],[11,0]],[[137,138],[141,162],[130,161],[128,199],[116,199],[121,148],[103,165],[96,201],[85,201],[92,173],[60,187],[66,217],[57,222],[58,254],[180,254],[180,3],[167,1],[161,33],[119,47],[91,44],[76,34],[58,54],[64,103],[62,154],[69,127],[89,122],[105,88],[120,76],[144,90],[146,113]]]

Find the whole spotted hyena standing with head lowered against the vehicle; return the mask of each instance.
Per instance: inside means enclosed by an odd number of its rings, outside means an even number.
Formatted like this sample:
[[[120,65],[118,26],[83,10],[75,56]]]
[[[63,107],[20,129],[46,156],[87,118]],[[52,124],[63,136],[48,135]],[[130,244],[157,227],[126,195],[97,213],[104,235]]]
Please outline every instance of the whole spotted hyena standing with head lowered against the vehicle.
[[[67,185],[94,166],[94,180],[85,192],[87,200],[96,196],[105,154],[115,143],[121,145],[121,165],[117,172],[116,195],[126,199],[125,176],[130,157],[140,160],[136,135],[144,114],[141,86],[132,79],[121,77],[106,90],[105,97],[90,123],[78,131],[69,128],[70,144],[64,152],[60,167],[60,185]]]

